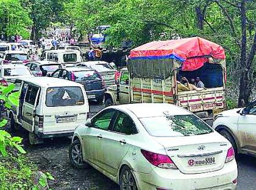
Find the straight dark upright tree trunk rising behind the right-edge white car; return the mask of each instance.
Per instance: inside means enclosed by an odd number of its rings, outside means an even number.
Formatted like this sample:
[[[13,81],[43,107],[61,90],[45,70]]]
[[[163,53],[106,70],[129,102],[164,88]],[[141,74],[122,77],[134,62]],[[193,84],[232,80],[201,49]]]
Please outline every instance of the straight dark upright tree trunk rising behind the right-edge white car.
[[[242,70],[240,76],[240,89],[238,98],[238,107],[243,107],[249,102],[251,93],[248,92],[249,84],[249,70],[246,69],[246,0],[241,1],[241,57],[240,57],[240,70]],[[249,93],[249,94],[248,94]]]

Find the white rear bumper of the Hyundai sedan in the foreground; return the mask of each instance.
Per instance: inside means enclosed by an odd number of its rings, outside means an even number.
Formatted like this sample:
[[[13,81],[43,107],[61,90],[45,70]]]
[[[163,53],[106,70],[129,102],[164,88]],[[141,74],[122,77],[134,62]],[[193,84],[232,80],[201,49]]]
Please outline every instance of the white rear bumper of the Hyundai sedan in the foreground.
[[[139,189],[211,189],[233,190],[237,178],[236,161],[230,161],[219,171],[202,174],[183,174],[178,169],[154,168],[150,174],[133,172]]]

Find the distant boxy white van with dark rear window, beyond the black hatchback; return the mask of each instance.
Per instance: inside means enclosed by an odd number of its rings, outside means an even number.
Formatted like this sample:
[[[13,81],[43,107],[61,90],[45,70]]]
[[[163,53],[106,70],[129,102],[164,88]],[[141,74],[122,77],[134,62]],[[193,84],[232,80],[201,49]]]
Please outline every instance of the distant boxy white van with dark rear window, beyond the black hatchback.
[[[43,53],[44,61],[55,61],[61,64],[77,64],[83,61],[79,50],[49,50]]]

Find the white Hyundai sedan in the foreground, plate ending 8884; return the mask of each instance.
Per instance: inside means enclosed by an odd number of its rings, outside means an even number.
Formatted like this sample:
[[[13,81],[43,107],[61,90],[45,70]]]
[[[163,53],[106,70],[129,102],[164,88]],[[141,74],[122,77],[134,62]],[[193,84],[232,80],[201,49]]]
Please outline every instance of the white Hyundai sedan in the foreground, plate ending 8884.
[[[196,115],[172,104],[110,106],[77,127],[69,148],[123,189],[235,189],[232,145]]]

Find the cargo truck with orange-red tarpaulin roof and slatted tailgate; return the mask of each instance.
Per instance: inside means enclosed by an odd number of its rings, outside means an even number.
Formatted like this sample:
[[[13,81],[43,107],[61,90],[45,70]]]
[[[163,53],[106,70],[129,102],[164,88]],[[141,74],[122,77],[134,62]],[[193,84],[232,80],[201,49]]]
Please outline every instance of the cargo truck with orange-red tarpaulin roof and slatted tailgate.
[[[194,37],[154,41],[130,52],[127,68],[105,92],[105,106],[127,103],[170,103],[211,120],[226,107],[224,49]],[[180,90],[180,80],[199,77],[205,88]]]

